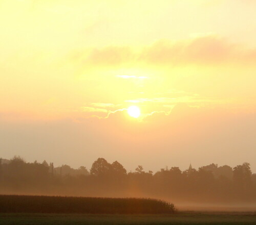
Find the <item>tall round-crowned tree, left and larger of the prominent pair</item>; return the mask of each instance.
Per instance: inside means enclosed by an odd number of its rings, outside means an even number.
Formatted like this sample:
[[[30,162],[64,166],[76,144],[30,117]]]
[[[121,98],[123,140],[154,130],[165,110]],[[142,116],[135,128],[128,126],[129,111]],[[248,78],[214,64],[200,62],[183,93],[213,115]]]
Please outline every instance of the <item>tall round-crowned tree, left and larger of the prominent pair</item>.
[[[90,173],[93,176],[106,176],[111,172],[111,164],[103,158],[98,158],[92,165]]]

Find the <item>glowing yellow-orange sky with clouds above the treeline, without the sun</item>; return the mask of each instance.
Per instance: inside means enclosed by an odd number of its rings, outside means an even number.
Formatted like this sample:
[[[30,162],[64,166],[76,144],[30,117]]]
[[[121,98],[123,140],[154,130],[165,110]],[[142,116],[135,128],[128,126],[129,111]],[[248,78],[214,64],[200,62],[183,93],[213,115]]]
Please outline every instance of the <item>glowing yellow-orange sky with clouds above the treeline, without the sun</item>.
[[[0,157],[256,172],[255,8],[0,0]]]

